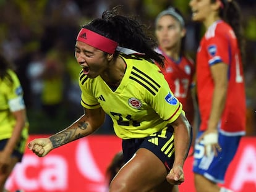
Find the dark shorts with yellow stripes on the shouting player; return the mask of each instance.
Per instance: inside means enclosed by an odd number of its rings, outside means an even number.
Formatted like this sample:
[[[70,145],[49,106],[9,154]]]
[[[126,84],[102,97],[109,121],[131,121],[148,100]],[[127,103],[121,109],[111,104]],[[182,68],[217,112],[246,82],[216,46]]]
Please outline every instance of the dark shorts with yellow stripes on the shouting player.
[[[173,127],[163,128],[163,130],[146,138],[122,140],[124,162],[129,161],[139,148],[145,148],[153,152],[170,170],[173,167],[175,158]]]

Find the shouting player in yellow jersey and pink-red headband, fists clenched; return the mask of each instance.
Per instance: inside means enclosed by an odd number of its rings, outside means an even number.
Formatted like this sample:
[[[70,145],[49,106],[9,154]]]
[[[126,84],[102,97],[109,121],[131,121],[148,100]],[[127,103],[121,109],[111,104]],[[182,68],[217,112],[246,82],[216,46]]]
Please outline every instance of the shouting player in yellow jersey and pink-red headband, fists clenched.
[[[43,157],[95,132],[107,113],[122,138],[126,162],[109,191],[171,191],[184,182],[191,128],[154,63],[163,65],[163,57],[153,49],[155,41],[139,22],[116,13],[116,8],[105,11],[77,36],[75,58],[82,67],[85,114],[49,138],[30,141],[28,148]]]

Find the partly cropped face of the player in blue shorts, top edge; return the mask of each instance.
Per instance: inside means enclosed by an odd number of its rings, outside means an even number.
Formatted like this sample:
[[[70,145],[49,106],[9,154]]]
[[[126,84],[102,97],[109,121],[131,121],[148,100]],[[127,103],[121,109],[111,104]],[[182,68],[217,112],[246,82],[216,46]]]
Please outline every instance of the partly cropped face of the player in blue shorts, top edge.
[[[189,6],[192,10],[192,20],[205,22],[207,17],[212,14],[210,0],[190,0]]]

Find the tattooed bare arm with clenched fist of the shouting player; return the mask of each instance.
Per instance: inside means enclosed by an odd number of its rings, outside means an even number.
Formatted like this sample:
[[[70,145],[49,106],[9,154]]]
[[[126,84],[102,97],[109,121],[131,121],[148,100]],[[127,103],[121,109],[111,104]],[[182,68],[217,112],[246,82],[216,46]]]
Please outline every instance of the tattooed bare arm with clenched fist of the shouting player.
[[[105,112],[102,108],[84,109],[83,114],[72,125],[48,138],[38,138],[28,143],[28,148],[38,157],[46,156],[54,148],[77,140],[95,132],[105,120]]]

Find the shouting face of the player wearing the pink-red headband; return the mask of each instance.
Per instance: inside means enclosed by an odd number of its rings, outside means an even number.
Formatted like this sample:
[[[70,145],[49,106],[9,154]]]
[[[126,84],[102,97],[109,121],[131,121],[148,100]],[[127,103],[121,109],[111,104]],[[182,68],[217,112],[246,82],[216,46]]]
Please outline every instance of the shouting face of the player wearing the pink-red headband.
[[[88,78],[95,78],[101,75],[108,67],[105,52],[81,41],[77,41],[75,44],[75,59],[77,59],[80,67],[83,68],[83,73]]]

